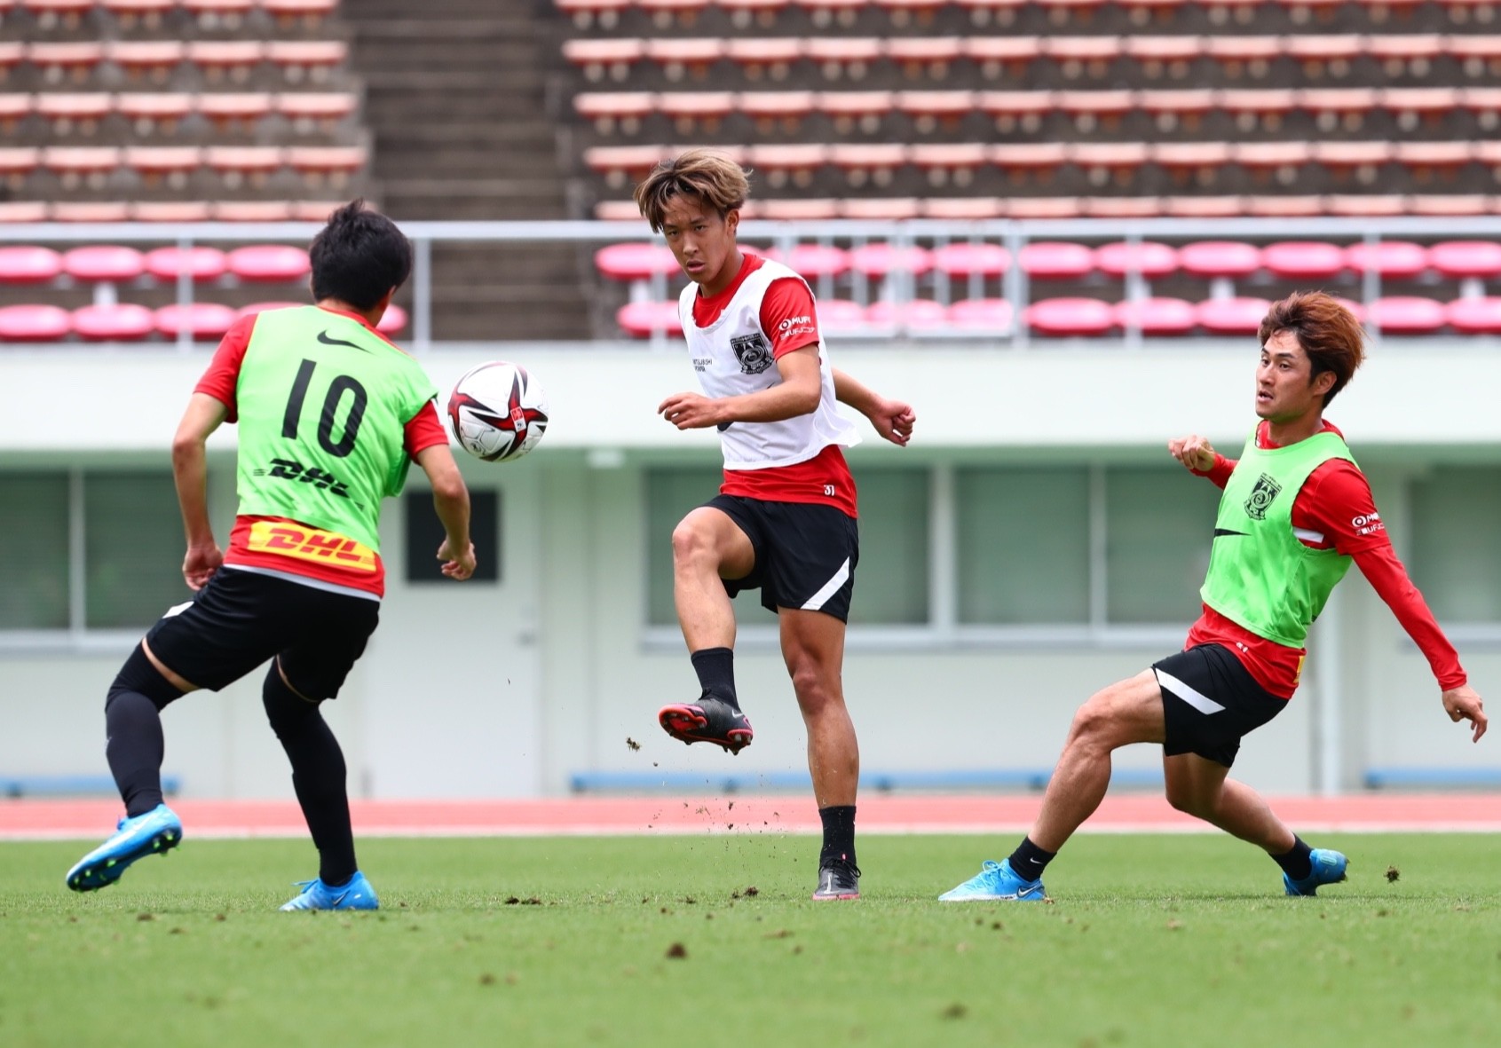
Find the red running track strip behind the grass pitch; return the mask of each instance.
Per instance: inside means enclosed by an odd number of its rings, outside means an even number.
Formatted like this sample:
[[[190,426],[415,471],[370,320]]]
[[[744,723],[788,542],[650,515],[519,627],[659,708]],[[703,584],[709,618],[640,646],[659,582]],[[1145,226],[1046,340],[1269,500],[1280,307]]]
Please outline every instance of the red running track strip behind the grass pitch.
[[[865,796],[862,833],[1021,833],[1042,797]],[[1298,832],[1501,832],[1501,794],[1273,797]],[[647,833],[812,833],[812,797],[558,797],[543,800],[356,800],[362,836],[554,836]],[[291,800],[174,800],[195,838],[302,836]],[[0,841],[89,839],[122,815],[116,800],[0,800]],[[1205,823],[1153,794],[1106,797],[1085,832],[1202,832]]]

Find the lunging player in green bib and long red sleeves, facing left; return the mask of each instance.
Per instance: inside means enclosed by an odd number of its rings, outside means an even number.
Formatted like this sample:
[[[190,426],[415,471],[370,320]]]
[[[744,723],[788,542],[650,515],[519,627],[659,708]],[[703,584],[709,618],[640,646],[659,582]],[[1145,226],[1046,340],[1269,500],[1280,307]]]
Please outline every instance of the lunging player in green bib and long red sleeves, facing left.
[[[1168,800],[1264,848],[1288,895],[1345,880],[1346,859],[1310,848],[1250,787],[1226,778],[1241,736],[1280,713],[1298,686],[1303,641],[1354,562],[1427,658],[1450,721],[1486,731],[1480,695],[1391,550],[1370,485],[1324,408],[1364,356],[1358,321],[1322,293],[1292,294],[1261,321],[1256,414],[1240,461],[1202,437],[1168,450],[1225,489],[1214,521],[1204,614],[1184,650],[1096,692],[1073,718],[1031,832],[1004,862],[938,898],[1046,898],[1042,872],[1105,797],[1111,752],[1162,743]]]

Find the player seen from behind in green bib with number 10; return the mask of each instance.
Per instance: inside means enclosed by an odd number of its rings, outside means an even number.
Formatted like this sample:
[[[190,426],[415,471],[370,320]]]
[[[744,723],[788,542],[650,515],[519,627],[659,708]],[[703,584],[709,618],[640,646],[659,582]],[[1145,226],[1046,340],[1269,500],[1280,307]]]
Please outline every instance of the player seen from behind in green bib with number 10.
[[[150,628],[105,700],[110,770],[125,800],[119,830],[68,871],[92,892],[182,841],[162,803],[161,712],[219,691],[270,659],[261,695],[291,761],[318,848],[318,877],[282,910],[374,910],[359,872],[344,754],[318,712],[375,631],[386,571],[381,500],[413,459],[432,482],[446,538],[443,574],[474,574],[470,500],[422,366],[375,330],[411,273],[411,245],[353,201],[312,242],[317,305],[237,321],[188,402],[173,474],[188,535],[183,578],[197,590]],[[204,498],[206,441],[239,422],[239,515],[221,553]]]

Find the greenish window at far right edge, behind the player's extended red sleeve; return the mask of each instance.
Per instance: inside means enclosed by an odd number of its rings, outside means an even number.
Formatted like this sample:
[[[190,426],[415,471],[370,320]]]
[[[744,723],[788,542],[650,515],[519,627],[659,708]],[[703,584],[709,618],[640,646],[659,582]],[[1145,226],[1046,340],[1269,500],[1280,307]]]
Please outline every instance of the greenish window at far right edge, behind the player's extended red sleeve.
[[[1412,581],[1433,616],[1501,623],[1501,468],[1436,468],[1411,491]]]

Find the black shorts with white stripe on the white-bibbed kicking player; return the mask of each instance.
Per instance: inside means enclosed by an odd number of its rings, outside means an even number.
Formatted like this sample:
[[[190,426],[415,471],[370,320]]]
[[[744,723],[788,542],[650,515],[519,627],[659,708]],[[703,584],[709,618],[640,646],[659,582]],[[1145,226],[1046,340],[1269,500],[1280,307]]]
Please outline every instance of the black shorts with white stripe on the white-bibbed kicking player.
[[[750,539],[755,568],[725,580],[725,590],[761,590],[761,607],[824,611],[850,622],[854,569],[860,563],[860,526],[833,506],[763,501],[714,495],[705,506],[722,510]]]

